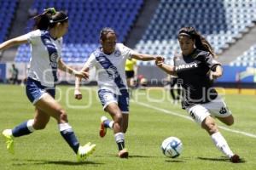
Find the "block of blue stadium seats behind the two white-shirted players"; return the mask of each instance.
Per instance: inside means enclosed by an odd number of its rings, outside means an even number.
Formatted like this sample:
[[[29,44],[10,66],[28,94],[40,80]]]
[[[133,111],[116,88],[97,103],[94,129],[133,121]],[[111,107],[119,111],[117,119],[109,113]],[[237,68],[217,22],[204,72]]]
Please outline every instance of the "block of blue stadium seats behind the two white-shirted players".
[[[65,62],[85,62],[89,54],[99,45],[99,32],[102,27],[113,27],[124,42],[131,26],[142,8],[143,0],[35,0],[32,8],[41,13],[44,8],[55,7],[67,11],[69,30],[64,37],[62,59]],[[32,20],[28,28],[32,29]],[[30,48],[18,48],[16,62],[28,62]]]

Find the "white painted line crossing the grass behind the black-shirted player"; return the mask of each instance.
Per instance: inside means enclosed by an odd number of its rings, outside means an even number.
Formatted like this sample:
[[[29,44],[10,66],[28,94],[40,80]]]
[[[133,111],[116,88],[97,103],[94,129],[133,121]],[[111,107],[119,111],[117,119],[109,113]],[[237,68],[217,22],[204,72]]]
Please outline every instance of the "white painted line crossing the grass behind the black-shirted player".
[[[143,105],[143,106],[145,106],[145,107],[148,107],[148,108],[150,108],[150,109],[154,109],[154,110],[156,110],[156,111],[161,111],[161,112],[166,113],[166,114],[168,114],[168,115],[180,116],[180,117],[182,117],[182,118],[184,118],[184,119],[189,119],[190,121],[193,121],[193,119],[192,119],[191,117],[181,115],[181,114],[179,114],[179,113],[177,113],[177,112],[174,112],[174,111],[167,111],[167,110],[165,110],[165,109],[157,108],[156,106],[148,105],[148,104],[145,104],[145,103],[142,103],[142,102],[134,102],[134,103],[136,103],[137,105]],[[233,130],[233,129],[230,129],[230,128],[228,128],[228,127],[223,127],[223,126],[218,126],[218,127],[221,128],[221,129],[223,129],[223,130],[225,130],[225,131],[229,131],[229,132],[231,132],[231,133],[239,133],[239,134],[242,134],[242,135],[245,135],[245,136],[248,136],[248,137],[251,137],[251,138],[256,139],[256,135],[253,134],[253,133],[246,133],[246,132],[242,132],[242,131],[240,131],[240,130]]]

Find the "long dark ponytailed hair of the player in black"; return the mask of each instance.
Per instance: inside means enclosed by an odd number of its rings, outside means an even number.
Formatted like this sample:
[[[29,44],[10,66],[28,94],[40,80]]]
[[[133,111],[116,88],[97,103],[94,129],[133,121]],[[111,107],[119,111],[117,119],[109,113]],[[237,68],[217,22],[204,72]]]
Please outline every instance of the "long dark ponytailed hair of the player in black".
[[[180,29],[178,33],[179,36],[187,36],[190,37],[191,39],[195,40],[195,47],[197,49],[200,49],[202,51],[207,51],[214,58],[216,58],[216,54],[213,51],[213,48],[209,42],[207,42],[207,39],[205,37],[202,37],[201,34],[197,31],[195,31],[195,28],[193,27],[183,27]]]

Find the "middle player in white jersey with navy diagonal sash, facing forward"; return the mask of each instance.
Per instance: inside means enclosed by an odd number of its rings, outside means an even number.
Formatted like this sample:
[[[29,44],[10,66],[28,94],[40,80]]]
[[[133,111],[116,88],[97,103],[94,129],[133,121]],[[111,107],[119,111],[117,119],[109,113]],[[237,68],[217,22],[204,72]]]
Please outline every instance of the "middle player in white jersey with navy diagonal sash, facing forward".
[[[147,61],[163,58],[138,54],[122,43],[117,43],[117,36],[112,28],[102,29],[100,42],[102,46],[90,54],[81,71],[89,71],[90,68],[96,67],[98,96],[103,110],[113,118],[111,121],[106,116],[102,116],[100,136],[105,136],[107,128],[113,129],[114,138],[119,148],[119,158],[127,158],[128,151],[125,149],[124,133],[128,127],[129,94],[125,78],[125,60],[132,58]],[[80,79],[77,78],[74,92],[76,99],[82,99],[79,82]]]

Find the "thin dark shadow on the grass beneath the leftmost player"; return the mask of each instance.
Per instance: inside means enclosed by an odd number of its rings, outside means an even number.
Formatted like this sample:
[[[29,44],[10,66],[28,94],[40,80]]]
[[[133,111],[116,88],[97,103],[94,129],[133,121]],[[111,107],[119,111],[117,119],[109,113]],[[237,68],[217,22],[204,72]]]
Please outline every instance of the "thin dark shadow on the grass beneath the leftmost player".
[[[20,160],[15,159],[15,161],[28,161],[28,162],[19,162],[19,163],[13,163],[14,166],[22,166],[22,165],[45,165],[45,164],[55,164],[55,165],[102,165],[104,163],[98,163],[94,161],[49,161],[49,160]]]

